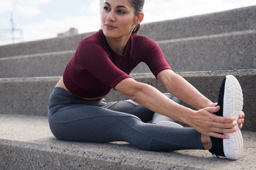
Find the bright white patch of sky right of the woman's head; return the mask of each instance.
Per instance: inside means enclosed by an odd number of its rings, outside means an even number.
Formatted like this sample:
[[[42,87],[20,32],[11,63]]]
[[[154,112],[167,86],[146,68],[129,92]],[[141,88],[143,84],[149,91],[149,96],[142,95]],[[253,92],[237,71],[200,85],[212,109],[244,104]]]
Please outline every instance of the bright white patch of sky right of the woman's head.
[[[255,0],[151,0],[144,6],[143,23],[225,11],[256,5]]]

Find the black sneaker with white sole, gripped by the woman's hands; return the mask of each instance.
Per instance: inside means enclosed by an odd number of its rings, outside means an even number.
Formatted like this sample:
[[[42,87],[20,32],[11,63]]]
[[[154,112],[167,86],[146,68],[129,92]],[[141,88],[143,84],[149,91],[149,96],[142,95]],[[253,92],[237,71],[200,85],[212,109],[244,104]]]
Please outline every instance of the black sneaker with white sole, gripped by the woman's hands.
[[[232,75],[228,75],[223,79],[220,87],[218,98],[218,106],[220,111],[216,115],[227,117],[234,116],[235,122],[238,122],[239,115],[242,111],[242,89],[238,80]],[[235,126],[236,132],[225,133],[229,139],[219,139],[210,137],[212,147],[209,151],[218,156],[227,157],[228,159],[239,159],[242,154],[242,133],[238,125]]]

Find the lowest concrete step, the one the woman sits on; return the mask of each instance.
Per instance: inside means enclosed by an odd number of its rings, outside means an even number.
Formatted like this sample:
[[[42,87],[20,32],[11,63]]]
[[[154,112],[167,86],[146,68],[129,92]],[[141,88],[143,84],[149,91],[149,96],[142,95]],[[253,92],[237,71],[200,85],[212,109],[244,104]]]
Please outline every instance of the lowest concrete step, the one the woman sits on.
[[[46,117],[0,114],[0,169],[256,169],[256,132],[242,130],[237,161],[204,150],[149,152],[127,142],[64,142]]]

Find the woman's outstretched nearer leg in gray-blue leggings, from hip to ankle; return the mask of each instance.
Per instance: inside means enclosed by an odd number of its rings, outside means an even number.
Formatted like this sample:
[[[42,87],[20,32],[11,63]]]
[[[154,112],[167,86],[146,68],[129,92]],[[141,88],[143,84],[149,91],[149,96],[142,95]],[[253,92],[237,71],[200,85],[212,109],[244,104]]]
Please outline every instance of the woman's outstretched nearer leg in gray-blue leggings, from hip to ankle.
[[[143,123],[127,113],[97,106],[66,108],[50,116],[50,129],[60,140],[84,142],[125,141],[155,151],[203,149],[193,128],[170,128]]]

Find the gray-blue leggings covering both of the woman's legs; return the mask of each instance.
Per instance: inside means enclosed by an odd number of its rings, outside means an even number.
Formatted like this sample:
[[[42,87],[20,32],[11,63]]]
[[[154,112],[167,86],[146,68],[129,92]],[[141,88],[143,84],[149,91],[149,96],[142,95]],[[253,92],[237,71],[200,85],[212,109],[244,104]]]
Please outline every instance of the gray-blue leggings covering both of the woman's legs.
[[[166,94],[173,98],[170,94]],[[154,117],[152,123],[147,123]],[[193,128],[156,125],[171,120],[131,100],[107,103],[84,100],[61,88],[53,89],[48,102],[53,135],[78,142],[124,141],[140,149],[171,151],[203,149],[201,134]]]

